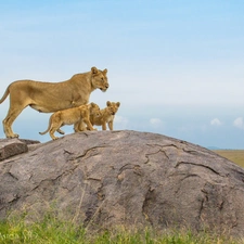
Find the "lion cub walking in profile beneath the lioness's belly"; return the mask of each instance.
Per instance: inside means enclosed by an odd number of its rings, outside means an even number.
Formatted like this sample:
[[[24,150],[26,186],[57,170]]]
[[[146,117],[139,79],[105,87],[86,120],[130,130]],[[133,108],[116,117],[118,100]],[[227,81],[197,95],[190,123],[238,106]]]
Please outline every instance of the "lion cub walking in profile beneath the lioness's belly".
[[[95,103],[90,103],[87,105],[81,105],[77,107],[72,107],[63,111],[57,111],[53,113],[49,119],[49,127],[46,131],[39,132],[40,134],[44,134],[49,131],[52,140],[56,140],[57,137],[54,136],[54,132],[57,131],[61,134],[64,134],[60,128],[64,125],[73,125],[77,123],[84,121],[89,130],[95,130],[91,123],[90,116],[100,116],[100,107]],[[78,128],[75,126],[75,132],[78,131]]]

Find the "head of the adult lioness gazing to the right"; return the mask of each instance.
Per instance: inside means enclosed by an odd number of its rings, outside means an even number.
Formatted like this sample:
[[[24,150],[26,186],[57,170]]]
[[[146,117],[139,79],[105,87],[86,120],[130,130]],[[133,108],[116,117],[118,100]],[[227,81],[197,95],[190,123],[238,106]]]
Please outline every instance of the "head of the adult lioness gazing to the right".
[[[110,87],[106,77],[107,69],[100,70],[97,67],[91,68],[91,84],[94,89],[100,89],[102,91],[106,91]]]

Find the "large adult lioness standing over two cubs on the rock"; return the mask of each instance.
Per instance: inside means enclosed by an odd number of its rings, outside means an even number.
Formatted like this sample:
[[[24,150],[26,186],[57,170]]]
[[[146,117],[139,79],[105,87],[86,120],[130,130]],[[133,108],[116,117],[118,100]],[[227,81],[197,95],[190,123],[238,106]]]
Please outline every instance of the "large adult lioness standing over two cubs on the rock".
[[[12,82],[0,100],[2,103],[10,94],[10,108],[2,121],[7,138],[18,137],[12,131],[12,124],[26,106],[42,113],[52,113],[87,104],[92,91],[95,89],[106,91],[108,88],[106,73],[107,69],[91,67],[90,72],[76,74],[62,82],[34,80]]]

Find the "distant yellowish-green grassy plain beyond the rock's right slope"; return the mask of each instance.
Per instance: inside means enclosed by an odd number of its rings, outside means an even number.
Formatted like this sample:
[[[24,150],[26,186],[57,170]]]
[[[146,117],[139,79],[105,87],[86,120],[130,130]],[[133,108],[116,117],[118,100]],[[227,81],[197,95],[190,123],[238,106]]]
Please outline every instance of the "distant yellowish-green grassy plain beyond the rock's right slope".
[[[214,150],[214,152],[244,167],[244,150]]]

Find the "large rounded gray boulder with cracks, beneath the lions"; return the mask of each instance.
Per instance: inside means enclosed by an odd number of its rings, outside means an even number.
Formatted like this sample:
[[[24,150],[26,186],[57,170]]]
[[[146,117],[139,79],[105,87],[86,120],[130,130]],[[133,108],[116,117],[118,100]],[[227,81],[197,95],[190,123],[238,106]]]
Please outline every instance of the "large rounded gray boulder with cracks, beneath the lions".
[[[244,170],[160,134],[88,131],[0,164],[0,218],[47,210],[89,228],[209,229],[244,235]]]

